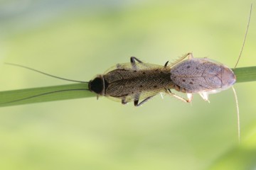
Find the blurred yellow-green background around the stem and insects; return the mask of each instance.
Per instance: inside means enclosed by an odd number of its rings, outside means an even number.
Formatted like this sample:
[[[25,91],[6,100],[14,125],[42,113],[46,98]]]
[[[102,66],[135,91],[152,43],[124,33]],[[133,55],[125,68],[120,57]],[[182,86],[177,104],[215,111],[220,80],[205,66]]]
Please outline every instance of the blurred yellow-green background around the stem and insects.
[[[90,80],[136,56],[164,64],[186,52],[255,66],[256,1],[0,1],[0,91]],[[83,98],[0,108],[0,169],[255,169],[255,82],[142,107]],[[1,97],[1,96],[0,96]]]

